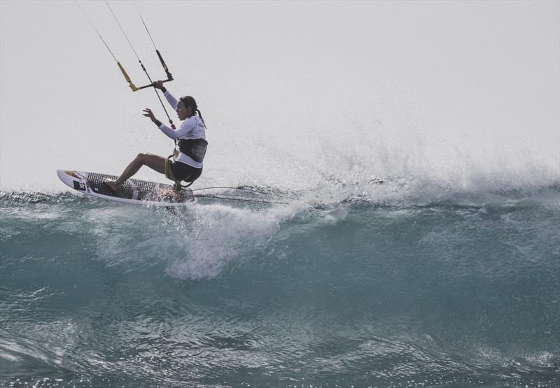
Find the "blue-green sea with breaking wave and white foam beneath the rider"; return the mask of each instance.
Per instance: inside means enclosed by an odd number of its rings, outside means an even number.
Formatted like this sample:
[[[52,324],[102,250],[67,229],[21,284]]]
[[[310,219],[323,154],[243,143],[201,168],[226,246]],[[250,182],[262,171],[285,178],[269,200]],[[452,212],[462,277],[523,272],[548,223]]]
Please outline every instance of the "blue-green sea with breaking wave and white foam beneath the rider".
[[[560,385],[558,185],[370,187],[177,213],[1,192],[1,385]]]

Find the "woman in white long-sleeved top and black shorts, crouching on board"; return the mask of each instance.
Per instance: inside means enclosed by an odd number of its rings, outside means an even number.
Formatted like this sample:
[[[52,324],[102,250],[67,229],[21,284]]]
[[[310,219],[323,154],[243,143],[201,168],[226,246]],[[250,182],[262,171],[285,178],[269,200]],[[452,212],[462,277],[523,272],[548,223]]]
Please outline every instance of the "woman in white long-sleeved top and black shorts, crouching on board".
[[[176,110],[179,120],[182,121],[179,129],[175,130],[156,119],[151,109],[144,109],[144,116],[150,117],[160,131],[176,141],[173,160],[153,154],[138,154],[116,180],[104,180],[105,185],[111,187],[113,191],[117,191],[120,185],[139,171],[141,166],[148,166],[175,182],[185,180],[192,183],[202,173],[202,161],[208,143],[205,140],[204,120],[195,99],[191,96],[183,96],[177,101],[165,89],[162,81],[153,82],[153,86],[164,92],[167,102]]]

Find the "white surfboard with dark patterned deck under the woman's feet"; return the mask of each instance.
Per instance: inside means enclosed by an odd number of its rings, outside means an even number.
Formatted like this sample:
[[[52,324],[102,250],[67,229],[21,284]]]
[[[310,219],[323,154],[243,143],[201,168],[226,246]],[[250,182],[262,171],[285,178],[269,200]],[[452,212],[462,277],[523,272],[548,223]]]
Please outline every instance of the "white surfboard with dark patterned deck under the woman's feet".
[[[185,206],[195,201],[193,191],[176,191],[172,185],[129,179],[114,192],[103,183],[105,178],[116,179],[115,175],[88,173],[86,171],[58,170],[58,178],[71,189],[82,194],[125,203],[151,206]]]

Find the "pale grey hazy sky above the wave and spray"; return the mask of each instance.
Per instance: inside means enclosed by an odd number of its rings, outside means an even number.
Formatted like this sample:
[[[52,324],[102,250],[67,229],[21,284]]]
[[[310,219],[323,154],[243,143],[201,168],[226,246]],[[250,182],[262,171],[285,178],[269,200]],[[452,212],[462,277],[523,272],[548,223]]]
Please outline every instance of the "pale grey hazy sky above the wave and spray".
[[[110,3],[152,78],[164,78],[134,3]],[[147,83],[106,4],[80,4]],[[421,131],[426,143],[558,159],[559,1],[136,5],[175,77],[169,89],[195,96],[209,122],[214,178],[254,163],[242,148],[300,138],[311,150],[379,122],[396,140]],[[118,173],[137,152],[169,155],[141,116],[149,106],[165,121],[155,94],[128,89],[76,3],[1,0],[0,13],[0,187],[57,188],[57,168]]]

